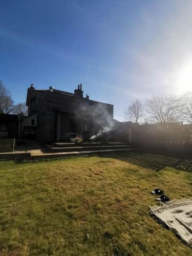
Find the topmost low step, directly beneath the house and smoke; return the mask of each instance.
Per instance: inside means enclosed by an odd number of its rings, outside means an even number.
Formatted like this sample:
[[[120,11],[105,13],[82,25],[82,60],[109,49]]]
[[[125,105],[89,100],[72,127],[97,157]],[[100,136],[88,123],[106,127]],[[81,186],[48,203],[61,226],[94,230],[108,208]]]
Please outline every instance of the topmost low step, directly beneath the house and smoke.
[[[51,147],[76,147],[77,145],[74,142],[53,142],[51,144],[47,144]],[[82,144],[83,147],[91,147],[91,146],[113,146],[113,145],[127,145],[127,143],[122,142],[109,142],[109,143],[101,143],[101,142],[84,142]]]

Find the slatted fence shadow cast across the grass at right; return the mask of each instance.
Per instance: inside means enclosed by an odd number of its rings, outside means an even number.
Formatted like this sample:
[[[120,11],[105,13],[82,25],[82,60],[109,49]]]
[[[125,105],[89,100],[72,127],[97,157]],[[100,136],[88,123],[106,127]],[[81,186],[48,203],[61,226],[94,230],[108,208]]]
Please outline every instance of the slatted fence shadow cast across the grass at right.
[[[175,169],[192,172],[192,159],[179,158],[175,156],[167,156],[153,154],[141,151],[123,152],[113,154],[103,154],[100,157],[115,158],[127,163],[138,165],[143,168],[148,168],[158,172],[165,167],[174,167]]]

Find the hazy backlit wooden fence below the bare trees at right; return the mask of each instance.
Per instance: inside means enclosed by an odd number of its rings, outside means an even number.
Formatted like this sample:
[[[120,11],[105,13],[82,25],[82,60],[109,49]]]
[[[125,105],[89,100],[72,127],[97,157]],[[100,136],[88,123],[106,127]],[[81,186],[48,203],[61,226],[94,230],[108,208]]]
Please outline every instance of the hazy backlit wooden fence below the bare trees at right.
[[[182,122],[138,125],[130,128],[129,142],[147,150],[192,156],[192,125]]]

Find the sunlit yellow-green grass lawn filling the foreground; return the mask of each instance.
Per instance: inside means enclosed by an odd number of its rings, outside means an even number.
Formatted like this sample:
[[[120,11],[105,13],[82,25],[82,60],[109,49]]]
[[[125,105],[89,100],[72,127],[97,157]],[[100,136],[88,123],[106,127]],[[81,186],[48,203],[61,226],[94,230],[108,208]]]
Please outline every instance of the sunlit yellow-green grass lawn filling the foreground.
[[[0,255],[192,255],[148,211],[155,187],[192,196],[190,163],[145,153],[0,162]]]

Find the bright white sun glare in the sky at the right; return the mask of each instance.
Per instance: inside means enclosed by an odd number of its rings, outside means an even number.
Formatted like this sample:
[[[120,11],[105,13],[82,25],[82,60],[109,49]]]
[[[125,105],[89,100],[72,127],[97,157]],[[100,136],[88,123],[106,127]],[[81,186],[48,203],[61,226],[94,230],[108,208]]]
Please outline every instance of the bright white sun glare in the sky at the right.
[[[192,91],[192,61],[179,70],[176,84],[178,93]]]

